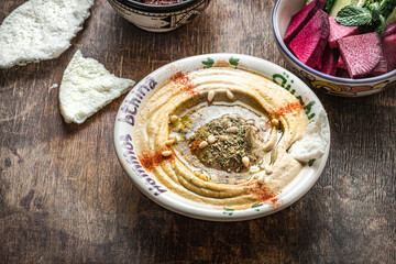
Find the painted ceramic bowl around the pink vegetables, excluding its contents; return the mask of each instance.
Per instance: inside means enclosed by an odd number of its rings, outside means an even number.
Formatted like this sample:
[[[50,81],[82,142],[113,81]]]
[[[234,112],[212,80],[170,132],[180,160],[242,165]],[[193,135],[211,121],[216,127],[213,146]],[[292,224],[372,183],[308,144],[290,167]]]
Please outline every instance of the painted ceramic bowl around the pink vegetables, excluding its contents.
[[[395,86],[396,70],[371,78],[350,79],[326,75],[302,64],[287,48],[283,38],[292,16],[301,10],[305,3],[305,0],[278,0],[273,10],[272,24],[276,44],[293,73],[314,89],[342,97],[370,96]]]

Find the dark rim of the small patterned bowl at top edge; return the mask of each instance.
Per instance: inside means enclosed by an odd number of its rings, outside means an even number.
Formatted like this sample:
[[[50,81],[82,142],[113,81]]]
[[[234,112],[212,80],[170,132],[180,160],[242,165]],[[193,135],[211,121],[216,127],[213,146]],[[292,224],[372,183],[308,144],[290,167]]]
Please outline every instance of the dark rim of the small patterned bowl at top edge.
[[[114,0],[122,4],[127,4],[130,8],[135,8],[142,11],[151,11],[151,12],[172,12],[172,11],[179,11],[188,8],[190,4],[198,2],[200,0],[185,0],[179,3],[170,3],[164,6],[155,6],[148,3],[138,2],[135,0]]]

